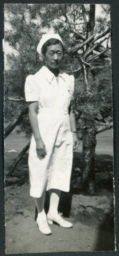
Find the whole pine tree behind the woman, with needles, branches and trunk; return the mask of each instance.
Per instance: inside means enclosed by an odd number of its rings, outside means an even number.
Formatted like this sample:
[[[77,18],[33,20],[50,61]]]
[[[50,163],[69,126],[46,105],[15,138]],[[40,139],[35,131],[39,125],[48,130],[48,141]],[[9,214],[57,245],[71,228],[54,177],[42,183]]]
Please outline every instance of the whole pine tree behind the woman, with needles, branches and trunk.
[[[74,109],[79,138],[83,139],[82,189],[93,194],[96,134],[112,127],[109,5],[102,5],[104,15],[100,17],[96,17],[94,4],[12,4],[10,7],[6,4],[5,7],[11,15],[12,28],[6,32],[6,40],[18,52],[8,56],[10,69],[5,77],[6,88],[9,86],[11,92],[6,89],[7,98],[9,94],[24,98],[26,76],[43,65],[36,46],[46,28],[54,29],[64,41],[62,70],[76,78]],[[13,105],[15,108],[16,102],[9,101],[10,115]],[[19,101],[13,115],[18,115],[19,109],[21,114],[24,108],[25,102]],[[22,116],[20,127],[30,134],[28,116]]]

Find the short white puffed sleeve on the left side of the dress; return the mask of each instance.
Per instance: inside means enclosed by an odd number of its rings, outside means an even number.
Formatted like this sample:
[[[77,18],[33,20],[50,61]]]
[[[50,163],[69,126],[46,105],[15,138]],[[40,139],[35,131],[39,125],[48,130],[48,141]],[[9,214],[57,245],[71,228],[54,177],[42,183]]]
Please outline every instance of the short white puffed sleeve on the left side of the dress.
[[[37,84],[34,80],[34,75],[29,75],[25,81],[25,98],[26,101],[38,101],[39,94]]]

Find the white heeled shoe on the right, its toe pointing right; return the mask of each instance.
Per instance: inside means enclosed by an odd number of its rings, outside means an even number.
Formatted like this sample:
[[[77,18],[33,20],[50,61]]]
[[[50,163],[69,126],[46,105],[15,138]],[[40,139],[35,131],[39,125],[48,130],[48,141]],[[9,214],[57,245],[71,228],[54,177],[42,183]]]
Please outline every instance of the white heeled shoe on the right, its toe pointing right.
[[[49,224],[53,224],[53,222],[56,222],[60,225],[60,227],[70,228],[73,227],[73,224],[64,220],[62,217],[62,214],[55,214],[51,215],[49,212],[47,214],[47,221]]]

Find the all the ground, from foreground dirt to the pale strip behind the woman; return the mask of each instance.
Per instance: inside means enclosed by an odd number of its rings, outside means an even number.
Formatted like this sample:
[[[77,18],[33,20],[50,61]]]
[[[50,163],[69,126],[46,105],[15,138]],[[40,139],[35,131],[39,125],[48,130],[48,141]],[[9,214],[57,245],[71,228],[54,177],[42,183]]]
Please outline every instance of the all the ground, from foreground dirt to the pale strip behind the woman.
[[[14,131],[10,136],[6,139],[7,254],[114,250],[111,133],[103,133],[97,138],[95,195],[81,194],[73,185],[70,193],[62,193],[59,210],[63,212],[65,219],[73,223],[73,228],[65,229],[53,224],[51,236],[41,234],[34,220],[35,204],[29,196],[28,153],[15,168],[13,176],[7,178],[10,166],[27,143],[25,135],[17,135]],[[81,146],[74,154],[74,166],[79,162],[81,165]],[[106,179],[102,179],[103,176]],[[80,183],[80,177],[77,182]],[[47,194],[46,211],[48,204]]]

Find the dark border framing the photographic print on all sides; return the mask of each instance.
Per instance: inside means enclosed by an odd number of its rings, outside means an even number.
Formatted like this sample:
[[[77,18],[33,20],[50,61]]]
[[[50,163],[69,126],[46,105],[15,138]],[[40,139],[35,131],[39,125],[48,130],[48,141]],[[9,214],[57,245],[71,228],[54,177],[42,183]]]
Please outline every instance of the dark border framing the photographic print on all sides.
[[[116,251],[98,251],[98,252],[47,252],[43,253],[43,255],[118,255],[118,229],[119,229],[119,199],[118,199],[118,194],[119,194],[119,157],[118,157],[118,152],[119,152],[119,89],[118,89],[118,81],[119,81],[119,72],[118,72],[118,42],[119,42],[119,33],[118,33],[118,23],[119,23],[119,4],[118,1],[115,0],[110,0],[110,1],[26,1],[26,0],[21,0],[21,1],[1,1],[1,8],[0,8],[0,17],[1,17],[1,69],[0,69],[0,78],[1,78],[1,93],[0,93],[0,136],[1,136],[1,158],[0,158],[0,163],[1,163],[1,184],[0,184],[0,195],[1,195],[1,211],[0,211],[0,229],[1,229],[1,236],[0,236],[0,254],[6,255],[5,254],[5,214],[4,214],[4,53],[3,53],[3,38],[4,38],[4,4],[69,4],[69,3],[78,3],[78,4],[110,4],[111,5],[111,54],[112,54],[112,91],[113,91],[113,142],[114,142],[114,188],[115,188],[115,230],[116,230]],[[79,241],[80,242],[80,241]],[[37,255],[41,255],[42,253],[37,253]],[[9,254],[7,254],[9,255]],[[10,255],[16,255],[16,254],[10,254]],[[20,255],[36,255],[36,253],[19,253]]]

